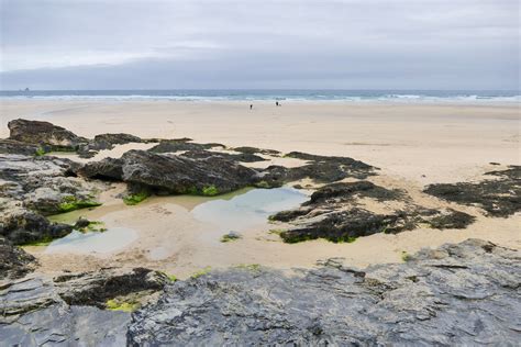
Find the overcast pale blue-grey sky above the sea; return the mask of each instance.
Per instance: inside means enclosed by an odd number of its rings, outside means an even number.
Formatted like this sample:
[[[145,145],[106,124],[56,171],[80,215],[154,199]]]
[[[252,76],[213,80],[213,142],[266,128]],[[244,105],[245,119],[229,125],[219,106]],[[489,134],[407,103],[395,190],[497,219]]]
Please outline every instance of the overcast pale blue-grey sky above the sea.
[[[518,0],[0,0],[0,89],[518,90]]]

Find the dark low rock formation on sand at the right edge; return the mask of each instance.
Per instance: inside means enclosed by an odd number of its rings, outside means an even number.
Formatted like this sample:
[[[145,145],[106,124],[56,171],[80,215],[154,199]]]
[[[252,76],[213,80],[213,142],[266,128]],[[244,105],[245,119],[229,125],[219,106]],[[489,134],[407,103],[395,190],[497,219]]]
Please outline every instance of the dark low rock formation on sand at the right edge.
[[[506,217],[521,211],[521,166],[510,166],[507,170],[486,175],[496,176],[497,179],[476,183],[431,184],[424,191],[447,201],[478,205],[491,216]]]

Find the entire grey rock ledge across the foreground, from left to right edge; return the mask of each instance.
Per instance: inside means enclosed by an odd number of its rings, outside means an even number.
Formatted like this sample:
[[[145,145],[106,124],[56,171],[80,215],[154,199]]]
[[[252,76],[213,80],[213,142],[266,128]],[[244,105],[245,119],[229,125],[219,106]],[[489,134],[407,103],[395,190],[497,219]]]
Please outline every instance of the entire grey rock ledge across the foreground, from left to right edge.
[[[102,269],[0,282],[2,346],[517,346],[521,256],[468,239],[350,268],[292,275],[245,265],[173,282]],[[137,311],[110,299],[156,292]],[[154,294],[152,294],[154,295]]]

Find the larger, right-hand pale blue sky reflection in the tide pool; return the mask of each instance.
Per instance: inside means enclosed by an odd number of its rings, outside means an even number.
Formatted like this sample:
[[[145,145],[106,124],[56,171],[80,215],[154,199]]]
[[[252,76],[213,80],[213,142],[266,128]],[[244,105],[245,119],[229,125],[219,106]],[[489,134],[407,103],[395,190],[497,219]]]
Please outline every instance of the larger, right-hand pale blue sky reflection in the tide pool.
[[[196,219],[220,230],[241,231],[266,222],[274,213],[297,208],[308,195],[293,188],[253,189],[230,200],[212,200],[197,205]]]

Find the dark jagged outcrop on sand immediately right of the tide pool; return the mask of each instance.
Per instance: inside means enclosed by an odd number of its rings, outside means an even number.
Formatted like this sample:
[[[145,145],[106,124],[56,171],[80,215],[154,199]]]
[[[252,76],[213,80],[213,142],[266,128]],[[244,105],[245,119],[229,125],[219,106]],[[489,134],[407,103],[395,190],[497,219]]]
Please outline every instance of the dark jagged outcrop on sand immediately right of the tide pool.
[[[407,208],[387,214],[358,206],[358,199],[377,202],[403,201]],[[369,181],[337,182],[319,188],[300,208],[282,211],[273,221],[290,222],[292,227],[280,232],[287,243],[325,238],[353,242],[376,233],[396,234],[425,224],[435,228],[465,228],[475,217],[454,210],[434,210],[415,205],[402,191],[388,190]]]

